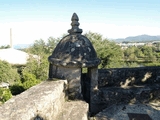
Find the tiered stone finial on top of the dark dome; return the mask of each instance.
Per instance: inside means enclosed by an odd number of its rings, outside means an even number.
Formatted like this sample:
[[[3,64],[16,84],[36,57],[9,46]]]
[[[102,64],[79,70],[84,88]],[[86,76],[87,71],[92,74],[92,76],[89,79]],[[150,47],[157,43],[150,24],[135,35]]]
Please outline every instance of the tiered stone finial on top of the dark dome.
[[[71,18],[71,26],[72,28],[68,30],[68,33],[74,34],[74,33],[82,33],[82,29],[79,29],[79,18],[76,13],[73,13],[72,18]]]

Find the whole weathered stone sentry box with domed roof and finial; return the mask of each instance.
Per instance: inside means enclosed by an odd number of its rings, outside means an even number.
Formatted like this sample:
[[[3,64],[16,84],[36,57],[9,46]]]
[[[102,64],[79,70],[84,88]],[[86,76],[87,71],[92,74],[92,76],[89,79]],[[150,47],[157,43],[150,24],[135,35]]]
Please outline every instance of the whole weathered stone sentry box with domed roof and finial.
[[[69,35],[60,40],[51,56],[48,57],[49,79],[67,79],[68,97],[70,99],[80,99],[83,93],[84,77],[82,68],[88,68],[86,77],[89,81],[89,102],[92,91],[98,89],[98,65],[100,59],[97,58],[96,51],[89,39],[83,35],[79,29],[79,18],[76,13],[71,18],[72,28],[68,30]],[[83,90],[82,90],[83,89]],[[88,89],[88,88],[87,88]],[[83,92],[82,92],[83,91]]]

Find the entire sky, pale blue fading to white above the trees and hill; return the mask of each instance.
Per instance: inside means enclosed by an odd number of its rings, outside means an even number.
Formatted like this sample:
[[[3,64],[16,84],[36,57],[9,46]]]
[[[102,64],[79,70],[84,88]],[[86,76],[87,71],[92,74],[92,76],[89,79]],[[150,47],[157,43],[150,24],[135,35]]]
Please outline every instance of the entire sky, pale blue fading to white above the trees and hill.
[[[160,35],[160,0],[0,0],[0,46],[61,37],[73,13],[83,33],[108,39]]]

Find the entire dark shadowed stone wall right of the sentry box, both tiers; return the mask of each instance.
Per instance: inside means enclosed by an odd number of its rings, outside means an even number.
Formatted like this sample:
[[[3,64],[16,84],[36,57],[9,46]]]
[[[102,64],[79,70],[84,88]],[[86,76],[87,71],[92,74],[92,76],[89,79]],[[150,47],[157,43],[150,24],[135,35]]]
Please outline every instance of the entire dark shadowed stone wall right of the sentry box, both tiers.
[[[115,104],[160,100],[160,67],[100,69],[98,74],[95,114]]]

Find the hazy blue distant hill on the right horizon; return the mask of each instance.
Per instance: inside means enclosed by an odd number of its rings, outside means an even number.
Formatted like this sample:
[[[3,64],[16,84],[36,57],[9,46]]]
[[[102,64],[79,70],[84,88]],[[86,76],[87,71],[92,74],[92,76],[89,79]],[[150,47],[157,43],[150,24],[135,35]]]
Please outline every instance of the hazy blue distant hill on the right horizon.
[[[126,38],[115,39],[115,42],[149,42],[149,41],[160,41],[159,36],[150,36],[150,35],[138,35],[138,36],[129,36]]]

